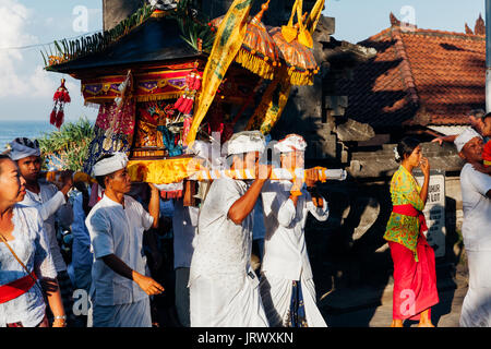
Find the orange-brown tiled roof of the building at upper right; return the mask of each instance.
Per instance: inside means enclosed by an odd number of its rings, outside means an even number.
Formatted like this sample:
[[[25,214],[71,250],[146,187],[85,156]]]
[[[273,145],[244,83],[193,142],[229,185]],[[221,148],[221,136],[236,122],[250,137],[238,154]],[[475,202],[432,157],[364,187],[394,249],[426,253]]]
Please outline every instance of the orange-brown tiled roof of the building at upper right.
[[[392,26],[359,45],[378,55],[339,83],[346,116],[374,128],[465,124],[486,105],[486,37]]]

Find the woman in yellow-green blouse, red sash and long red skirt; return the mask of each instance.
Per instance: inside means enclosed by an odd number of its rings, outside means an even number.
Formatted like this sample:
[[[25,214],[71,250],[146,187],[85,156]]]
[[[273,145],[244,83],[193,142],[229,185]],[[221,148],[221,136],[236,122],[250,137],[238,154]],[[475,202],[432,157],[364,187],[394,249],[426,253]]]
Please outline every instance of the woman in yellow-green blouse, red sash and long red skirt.
[[[391,181],[393,212],[384,234],[394,262],[391,327],[403,327],[405,320],[419,320],[420,327],[434,327],[431,306],[439,302],[434,251],[423,234],[428,228],[422,214],[428,197],[430,165],[421,154],[418,140],[405,137],[394,153],[402,164]],[[422,188],[412,177],[417,167],[424,174]]]

